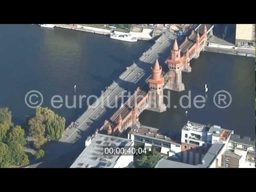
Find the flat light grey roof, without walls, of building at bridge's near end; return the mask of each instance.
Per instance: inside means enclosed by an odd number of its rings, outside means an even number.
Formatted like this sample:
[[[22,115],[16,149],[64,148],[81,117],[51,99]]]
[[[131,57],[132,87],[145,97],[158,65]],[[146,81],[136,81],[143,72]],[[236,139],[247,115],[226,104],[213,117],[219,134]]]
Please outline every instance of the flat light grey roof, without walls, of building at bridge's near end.
[[[106,146],[132,146],[133,141],[109,135],[96,134],[92,142],[78,156],[70,168],[113,168],[120,155],[104,156]]]

